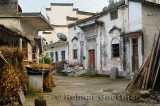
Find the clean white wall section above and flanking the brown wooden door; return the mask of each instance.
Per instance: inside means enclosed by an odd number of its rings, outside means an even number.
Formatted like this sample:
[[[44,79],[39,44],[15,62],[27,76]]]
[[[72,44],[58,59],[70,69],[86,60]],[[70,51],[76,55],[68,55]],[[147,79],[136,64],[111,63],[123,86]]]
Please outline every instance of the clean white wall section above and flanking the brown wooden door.
[[[129,1],[129,32],[142,31],[142,3]],[[138,66],[139,68],[143,64],[143,54],[142,54],[142,36],[138,36]],[[133,56],[133,43],[132,36],[129,37],[129,70],[132,73],[132,56]]]

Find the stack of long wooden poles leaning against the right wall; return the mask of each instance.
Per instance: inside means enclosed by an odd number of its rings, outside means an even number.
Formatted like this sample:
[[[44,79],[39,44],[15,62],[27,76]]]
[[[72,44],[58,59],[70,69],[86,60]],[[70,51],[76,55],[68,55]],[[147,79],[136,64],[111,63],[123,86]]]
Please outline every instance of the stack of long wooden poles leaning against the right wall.
[[[144,64],[133,76],[133,79],[127,86],[127,89],[153,89],[160,79],[160,34],[157,40],[154,40],[152,50],[147,56]]]

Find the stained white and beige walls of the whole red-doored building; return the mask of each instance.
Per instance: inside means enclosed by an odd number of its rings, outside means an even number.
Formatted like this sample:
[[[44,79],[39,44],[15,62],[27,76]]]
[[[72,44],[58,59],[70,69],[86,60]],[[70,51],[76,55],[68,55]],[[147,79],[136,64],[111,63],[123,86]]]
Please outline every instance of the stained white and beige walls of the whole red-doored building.
[[[148,9],[151,9],[147,12]],[[131,33],[141,30],[143,34],[138,36],[138,66],[139,68],[143,64],[144,59],[146,58],[153,42],[151,41],[154,38],[154,35],[158,35],[160,28],[160,18],[153,17],[149,18],[148,14],[158,13],[160,10],[159,7],[150,5],[144,5],[139,2],[129,1],[128,5],[120,7],[118,9],[118,19],[110,20],[110,13],[107,13],[100,18],[98,21],[104,22],[103,26],[98,27],[98,33],[96,37],[97,44],[97,56],[96,56],[96,67],[98,73],[109,74],[112,67],[118,67],[119,74],[121,76],[126,76],[127,74],[132,74],[132,56],[133,56],[133,36],[121,37],[123,33]],[[147,14],[148,13],[148,14]],[[82,31],[78,26],[88,25],[94,23],[96,19],[91,19],[81,24],[75,25],[69,28],[69,62],[72,64],[74,62],[80,63],[80,51],[78,52],[78,59],[74,60],[72,58],[73,54],[73,45],[77,45],[77,48],[80,48],[80,41],[75,40],[71,41],[74,36],[77,36],[77,33],[80,35],[86,36],[86,33]],[[113,27],[116,26],[118,29],[115,29],[110,32]],[[76,27],[76,30],[74,30]],[[96,29],[95,29],[96,30]],[[148,38],[151,38],[150,40]],[[88,51],[87,51],[87,40],[84,41],[84,56],[86,59],[83,62],[83,65],[86,70],[88,70]],[[124,42],[125,41],[125,42]],[[151,41],[151,43],[150,43]],[[120,44],[120,57],[112,57],[112,43],[119,42]],[[147,48],[149,47],[149,49]],[[143,54],[144,53],[144,54]],[[124,65],[125,62],[125,65]]]

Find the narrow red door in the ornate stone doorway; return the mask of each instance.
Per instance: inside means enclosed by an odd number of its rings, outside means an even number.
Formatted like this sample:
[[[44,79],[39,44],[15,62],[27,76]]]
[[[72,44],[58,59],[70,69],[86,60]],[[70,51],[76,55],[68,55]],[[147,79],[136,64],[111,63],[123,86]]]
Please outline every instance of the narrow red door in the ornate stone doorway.
[[[89,51],[89,55],[90,55],[90,71],[94,71],[95,70],[95,51],[94,50],[90,50]]]

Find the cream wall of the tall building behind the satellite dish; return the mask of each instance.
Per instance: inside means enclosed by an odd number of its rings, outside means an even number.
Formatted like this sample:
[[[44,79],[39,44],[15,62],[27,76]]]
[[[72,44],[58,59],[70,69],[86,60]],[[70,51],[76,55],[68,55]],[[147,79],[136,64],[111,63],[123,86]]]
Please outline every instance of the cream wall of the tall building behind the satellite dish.
[[[46,10],[47,17],[50,23],[54,26],[51,34],[43,34],[48,44],[58,42],[57,33],[63,33],[68,38],[68,27],[66,17],[77,17],[77,11],[73,10],[73,5],[51,5],[49,10]]]

